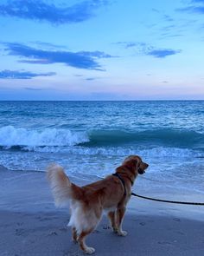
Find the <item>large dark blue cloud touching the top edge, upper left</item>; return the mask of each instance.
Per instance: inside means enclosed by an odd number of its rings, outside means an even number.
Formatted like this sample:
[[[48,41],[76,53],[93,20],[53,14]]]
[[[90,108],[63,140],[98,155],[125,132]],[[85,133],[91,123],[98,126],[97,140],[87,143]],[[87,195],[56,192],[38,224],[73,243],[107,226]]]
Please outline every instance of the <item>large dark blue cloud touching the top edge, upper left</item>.
[[[94,16],[94,10],[105,4],[105,0],[86,0],[70,7],[59,7],[43,0],[10,0],[0,4],[0,15],[54,24],[80,23]]]

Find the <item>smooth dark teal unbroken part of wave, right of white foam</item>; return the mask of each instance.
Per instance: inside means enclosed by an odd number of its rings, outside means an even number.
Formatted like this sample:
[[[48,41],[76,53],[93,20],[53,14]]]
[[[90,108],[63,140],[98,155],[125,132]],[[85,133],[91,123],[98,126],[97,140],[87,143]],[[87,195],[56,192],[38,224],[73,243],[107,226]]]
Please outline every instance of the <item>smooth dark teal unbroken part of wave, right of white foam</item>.
[[[154,129],[138,132],[92,131],[89,141],[80,143],[83,146],[108,146],[119,144],[136,144],[165,147],[203,147],[204,134],[188,130]]]

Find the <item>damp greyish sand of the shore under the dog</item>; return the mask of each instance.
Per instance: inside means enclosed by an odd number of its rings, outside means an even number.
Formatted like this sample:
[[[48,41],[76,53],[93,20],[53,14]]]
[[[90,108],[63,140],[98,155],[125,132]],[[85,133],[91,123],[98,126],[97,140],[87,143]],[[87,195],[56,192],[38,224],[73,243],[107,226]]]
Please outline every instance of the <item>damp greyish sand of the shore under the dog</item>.
[[[55,209],[45,174],[0,167],[0,187],[1,256],[83,255],[71,241],[68,209]],[[87,244],[95,255],[204,255],[204,207],[132,198],[124,230],[124,238],[113,234],[104,216]]]

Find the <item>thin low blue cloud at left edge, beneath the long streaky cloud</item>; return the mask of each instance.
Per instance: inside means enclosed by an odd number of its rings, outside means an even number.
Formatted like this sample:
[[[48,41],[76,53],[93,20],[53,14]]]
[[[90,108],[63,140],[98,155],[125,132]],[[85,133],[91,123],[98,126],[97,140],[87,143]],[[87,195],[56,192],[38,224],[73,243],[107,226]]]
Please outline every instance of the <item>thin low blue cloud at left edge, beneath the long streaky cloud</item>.
[[[0,71],[0,79],[32,79],[36,76],[51,76],[55,75],[54,72],[49,73],[33,73],[29,71],[18,71],[18,70],[2,70]]]

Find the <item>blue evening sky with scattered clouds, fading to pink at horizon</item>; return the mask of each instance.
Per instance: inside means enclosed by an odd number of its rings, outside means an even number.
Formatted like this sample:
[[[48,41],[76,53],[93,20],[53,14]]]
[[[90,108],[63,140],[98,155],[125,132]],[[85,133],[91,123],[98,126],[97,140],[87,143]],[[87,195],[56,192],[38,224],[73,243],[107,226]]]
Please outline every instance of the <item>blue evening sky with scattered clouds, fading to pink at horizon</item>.
[[[1,0],[0,100],[203,100],[204,0]]]

